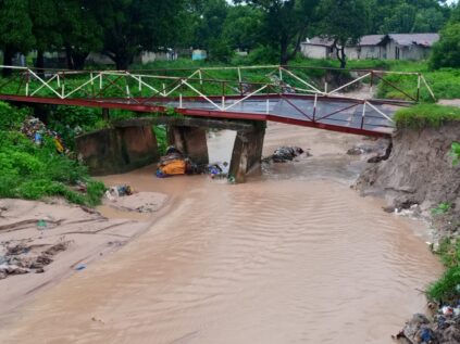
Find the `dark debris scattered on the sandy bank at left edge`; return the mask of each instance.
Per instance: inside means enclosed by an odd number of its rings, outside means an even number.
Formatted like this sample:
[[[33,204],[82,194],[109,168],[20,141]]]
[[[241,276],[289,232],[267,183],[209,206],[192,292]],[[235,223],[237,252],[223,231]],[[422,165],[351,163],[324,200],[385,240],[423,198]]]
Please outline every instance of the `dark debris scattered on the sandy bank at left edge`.
[[[20,243],[4,246],[0,255],[0,280],[12,275],[42,273],[45,267],[53,262],[53,256],[67,250],[70,242],[60,242],[42,252],[34,252],[33,246]]]

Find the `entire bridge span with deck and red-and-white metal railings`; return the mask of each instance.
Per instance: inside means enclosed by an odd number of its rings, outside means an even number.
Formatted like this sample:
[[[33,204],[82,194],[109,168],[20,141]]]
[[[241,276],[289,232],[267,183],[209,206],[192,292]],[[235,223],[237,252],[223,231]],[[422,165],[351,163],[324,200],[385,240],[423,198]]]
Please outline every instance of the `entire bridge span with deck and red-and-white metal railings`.
[[[12,76],[0,82],[0,100],[134,112],[170,113],[173,109],[187,116],[272,120],[366,136],[390,135],[394,113],[419,101],[421,85],[434,98],[420,73],[398,73],[417,82],[417,94],[410,94],[384,78],[397,72],[384,71],[353,71],[355,79],[327,91],[327,85],[322,90],[309,79],[308,67],[299,66],[170,71],[174,76],[165,75],[166,71],[158,75],[159,71],[2,68]],[[228,79],[210,75],[215,71]],[[254,71],[257,78],[251,75]],[[261,75],[264,77],[258,80]],[[364,81],[370,86],[369,99],[339,95]],[[400,93],[400,101],[371,99],[375,81]]]

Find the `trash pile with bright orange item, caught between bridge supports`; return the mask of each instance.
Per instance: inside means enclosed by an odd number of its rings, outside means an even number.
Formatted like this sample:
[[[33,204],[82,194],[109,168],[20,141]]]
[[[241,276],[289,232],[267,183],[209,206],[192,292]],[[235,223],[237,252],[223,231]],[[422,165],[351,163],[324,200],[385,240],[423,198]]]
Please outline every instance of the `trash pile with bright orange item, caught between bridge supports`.
[[[158,164],[157,177],[165,178],[177,175],[197,175],[202,170],[198,165],[191,163],[175,146],[171,145],[166,149],[166,154],[160,157]]]

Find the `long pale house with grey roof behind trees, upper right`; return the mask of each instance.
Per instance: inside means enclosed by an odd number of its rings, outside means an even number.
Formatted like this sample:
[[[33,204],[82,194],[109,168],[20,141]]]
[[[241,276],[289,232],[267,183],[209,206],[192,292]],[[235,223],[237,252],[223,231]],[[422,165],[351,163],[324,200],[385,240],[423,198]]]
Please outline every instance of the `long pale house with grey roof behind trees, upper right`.
[[[368,35],[358,43],[345,47],[350,60],[424,60],[435,42],[438,34],[389,34]],[[301,53],[310,59],[334,59],[333,40],[314,37],[301,43]]]

